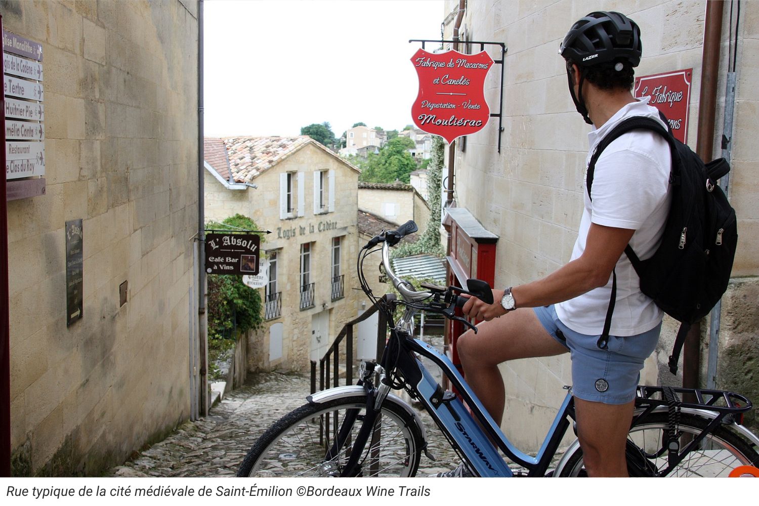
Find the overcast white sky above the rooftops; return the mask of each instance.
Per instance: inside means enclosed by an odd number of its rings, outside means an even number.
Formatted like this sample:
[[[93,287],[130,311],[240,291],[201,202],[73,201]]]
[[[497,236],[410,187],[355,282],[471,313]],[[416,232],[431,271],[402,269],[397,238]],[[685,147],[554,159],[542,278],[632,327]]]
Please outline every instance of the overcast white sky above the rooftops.
[[[411,56],[440,39],[442,0],[206,0],[206,137],[335,136],[364,121],[411,124]],[[436,48],[428,44],[427,50]]]

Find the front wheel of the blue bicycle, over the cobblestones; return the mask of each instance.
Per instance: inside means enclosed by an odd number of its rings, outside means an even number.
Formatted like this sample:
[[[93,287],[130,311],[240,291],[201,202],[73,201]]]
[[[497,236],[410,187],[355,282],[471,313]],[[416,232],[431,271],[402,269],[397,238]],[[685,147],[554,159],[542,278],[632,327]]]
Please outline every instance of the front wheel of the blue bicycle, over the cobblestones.
[[[238,476],[339,476],[342,464],[351,451],[349,442],[361,428],[361,414],[366,410],[366,395],[340,398],[322,404],[305,404],[283,416],[250,448]],[[334,432],[335,413],[360,410],[351,428],[348,445],[340,448],[335,459],[325,460],[327,446],[319,441],[321,428],[329,419],[329,440]],[[413,416],[392,403],[383,405],[375,426],[381,427],[379,441],[370,438],[359,460],[360,476],[414,476],[419,467],[423,437]],[[343,413],[344,415],[345,413]],[[329,415],[329,416],[328,416]],[[343,416],[338,417],[339,422]],[[373,442],[373,443],[372,443]],[[329,443],[328,443],[329,444]]]

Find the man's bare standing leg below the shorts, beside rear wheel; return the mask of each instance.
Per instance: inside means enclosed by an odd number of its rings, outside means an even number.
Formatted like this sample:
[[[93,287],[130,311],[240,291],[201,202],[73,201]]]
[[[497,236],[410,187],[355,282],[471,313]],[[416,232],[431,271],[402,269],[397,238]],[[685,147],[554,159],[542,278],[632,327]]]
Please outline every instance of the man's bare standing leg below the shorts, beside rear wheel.
[[[575,397],[578,439],[588,476],[628,476],[625,442],[635,401],[603,404]]]

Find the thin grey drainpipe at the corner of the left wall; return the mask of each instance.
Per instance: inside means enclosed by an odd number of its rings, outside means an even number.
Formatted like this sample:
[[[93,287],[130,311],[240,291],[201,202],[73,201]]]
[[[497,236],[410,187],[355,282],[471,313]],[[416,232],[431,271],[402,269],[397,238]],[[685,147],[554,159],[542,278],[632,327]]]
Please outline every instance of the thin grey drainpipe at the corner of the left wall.
[[[197,236],[198,303],[197,328],[200,342],[200,414],[208,415],[208,332],[206,320],[206,216],[203,207],[203,0],[197,2]]]

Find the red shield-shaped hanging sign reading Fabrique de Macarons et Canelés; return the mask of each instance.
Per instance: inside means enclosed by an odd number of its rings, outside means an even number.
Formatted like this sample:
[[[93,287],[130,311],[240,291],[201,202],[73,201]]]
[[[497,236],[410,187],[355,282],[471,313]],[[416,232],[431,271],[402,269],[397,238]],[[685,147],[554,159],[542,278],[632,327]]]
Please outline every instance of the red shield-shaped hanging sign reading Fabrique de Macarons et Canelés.
[[[419,76],[419,94],[411,106],[411,116],[420,130],[451,142],[485,127],[490,119],[485,77],[493,67],[493,58],[487,52],[436,55],[420,49],[411,63]]]

